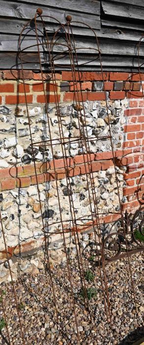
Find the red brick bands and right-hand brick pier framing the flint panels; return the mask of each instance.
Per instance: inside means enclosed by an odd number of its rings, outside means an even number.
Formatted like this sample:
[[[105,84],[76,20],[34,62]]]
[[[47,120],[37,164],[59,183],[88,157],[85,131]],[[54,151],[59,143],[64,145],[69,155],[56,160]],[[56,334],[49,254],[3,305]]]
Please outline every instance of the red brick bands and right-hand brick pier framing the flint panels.
[[[25,95],[22,73],[20,72],[20,75],[18,75],[17,71],[1,70],[0,75],[0,104],[24,104]],[[116,165],[127,167],[124,173],[126,188],[123,191],[127,202],[123,205],[123,208],[135,210],[140,206],[144,194],[144,97],[140,75],[139,73],[104,72],[103,76],[109,100],[126,100],[128,104],[124,111],[124,116],[126,117],[126,125],[124,126],[125,140],[122,148],[115,151],[114,155],[116,157]],[[44,103],[41,74],[25,71],[24,77],[27,102]],[[79,80],[78,73],[76,77]],[[80,77],[81,83],[78,83],[78,90],[82,88],[84,101],[105,100],[101,72],[83,72],[80,73]],[[44,80],[48,80],[47,78],[48,75],[44,74]],[[143,82],[144,73],[142,73],[141,78]],[[45,87],[48,91],[49,102],[55,103],[51,75],[50,79],[50,82],[45,83]],[[76,85],[73,83],[72,73],[66,71],[56,73],[56,79],[55,89],[57,88],[59,101],[73,102],[75,100],[74,89]],[[79,96],[81,102],[81,93]],[[108,169],[113,164],[112,158],[112,152],[91,154],[92,170],[95,172],[101,169]],[[68,165],[71,175],[86,173],[82,156],[69,159]],[[54,179],[53,162],[50,162],[50,165],[49,163],[47,164],[47,173],[43,173],[42,164],[37,163],[36,169],[39,183]],[[57,174],[59,179],[64,177],[64,163],[62,159],[57,160]],[[20,186],[27,187],[30,184],[36,184],[33,165],[0,170],[1,191]]]

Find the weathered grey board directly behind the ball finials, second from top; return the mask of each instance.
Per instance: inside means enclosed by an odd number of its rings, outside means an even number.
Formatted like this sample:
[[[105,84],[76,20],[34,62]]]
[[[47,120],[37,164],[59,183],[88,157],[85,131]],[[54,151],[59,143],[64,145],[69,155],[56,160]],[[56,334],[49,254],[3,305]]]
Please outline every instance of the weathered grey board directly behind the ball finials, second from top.
[[[36,6],[31,4],[25,4],[22,2],[12,2],[12,1],[3,1],[0,0],[0,7],[2,12],[0,12],[2,17],[10,18],[23,18],[31,19],[34,17],[36,12]],[[72,15],[73,21],[84,22],[84,14],[79,12],[71,12],[69,10],[61,10],[48,8],[43,6],[43,13],[47,16],[45,18],[46,22],[56,23],[58,20],[60,23],[65,23],[65,17],[67,14]],[[54,18],[56,18],[56,20]],[[85,22],[90,25],[93,29],[100,29],[100,18],[96,15],[89,15],[85,13]],[[83,24],[75,23],[75,26],[83,27]]]

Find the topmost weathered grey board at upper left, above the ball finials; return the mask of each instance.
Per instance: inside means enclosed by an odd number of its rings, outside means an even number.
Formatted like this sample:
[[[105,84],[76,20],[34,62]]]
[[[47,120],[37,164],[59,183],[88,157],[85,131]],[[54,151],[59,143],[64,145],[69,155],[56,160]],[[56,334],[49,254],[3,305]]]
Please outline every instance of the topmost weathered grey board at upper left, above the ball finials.
[[[16,2],[20,2],[16,0]],[[32,3],[33,0],[25,0],[25,2]],[[100,14],[100,1],[93,0],[35,0],[38,7],[47,6],[53,8],[62,8],[71,11],[86,12],[91,14]],[[43,13],[44,14],[44,13]]]

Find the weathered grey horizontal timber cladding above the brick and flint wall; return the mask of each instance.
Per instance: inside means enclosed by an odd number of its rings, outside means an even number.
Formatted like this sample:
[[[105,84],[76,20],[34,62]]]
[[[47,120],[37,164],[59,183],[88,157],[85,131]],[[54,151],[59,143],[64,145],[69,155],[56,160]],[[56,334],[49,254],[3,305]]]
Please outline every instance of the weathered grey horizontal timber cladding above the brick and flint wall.
[[[66,15],[70,14],[74,21],[85,21],[95,30],[104,70],[137,70],[137,47],[144,34],[144,0],[35,0],[34,3],[36,5],[33,5],[33,0],[0,0],[0,69],[21,68],[20,60],[16,60],[19,34],[23,26],[34,16],[36,8],[42,7],[43,14],[47,16],[46,30],[50,37],[58,28],[56,21],[50,16],[64,23]],[[41,33],[40,22],[38,29]],[[83,48],[78,50],[80,68],[99,70],[99,59],[94,60],[95,50],[92,48],[97,46],[91,31],[87,30],[85,25],[75,23],[73,33],[76,47]],[[24,37],[22,48],[36,44],[32,28],[28,27],[25,34],[27,36]],[[63,42],[62,37],[59,37],[59,42]],[[60,52],[62,49],[65,48],[55,46],[54,52]],[[42,48],[40,50],[42,51]],[[23,67],[38,70],[37,48],[33,46],[26,52],[25,60],[28,63],[24,63]],[[141,43],[140,56],[140,63],[143,64],[144,43]],[[44,68],[47,68],[47,55],[43,56],[41,53],[41,58]],[[86,65],[81,66],[83,63]],[[68,56],[61,55],[58,65],[61,69],[68,69]]]

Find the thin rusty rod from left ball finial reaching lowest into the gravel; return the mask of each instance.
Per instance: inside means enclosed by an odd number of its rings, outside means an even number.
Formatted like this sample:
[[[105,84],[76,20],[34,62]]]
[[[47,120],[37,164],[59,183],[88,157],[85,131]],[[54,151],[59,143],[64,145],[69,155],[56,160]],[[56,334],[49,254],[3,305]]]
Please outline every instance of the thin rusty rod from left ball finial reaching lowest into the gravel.
[[[35,15],[35,29],[36,29],[36,15]],[[38,43],[38,35],[37,35],[37,30],[36,31],[36,40]],[[45,104],[46,104],[46,114],[48,118],[48,126],[49,126],[49,134],[50,134],[50,139],[51,137],[51,131],[50,131],[50,124],[49,124],[49,116],[48,116],[48,108],[47,108],[47,97],[44,89],[44,80],[43,80],[43,72],[42,72],[42,65],[41,65],[41,59],[40,59],[40,51],[39,51],[39,45],[37,46],[38,48],[38,54],[39,54],[39,64],[40,64],[40,71],[41,71],[41,76],[42,76],[42,84],[43,84],[43,91],[44,91],[44,98],[45,98]],[[53,73],[52,73],[53,75]],[[53,152],[53,146],[52,148],[52,154],[54,157],[54,152]],[[55,176],[56,176],[56,186],[57,186],[57,194],[58,194],[58,181],[57,181],[57,173],[56,173],[56,166],[55,166],[55,160],[54,160],[54,171],[55,171]],[[67,256],[67,250],[66,250],[66,242],[65,242],[65,236],[64,236],[64,228],[63,228],[63,220],[62,220],[62,215],[61,215],[61,210],[60,210],[60,200],[59,200],[59,194],[58,194],[58,205],[59,205],[59,211],[60,211],[60,220],[61,220],[61,226],[62,226],[62,232],[63,232],[63,242],[64,242],[64,248],[65,248],[65,255],[66,255],[66,262],[67,262],[67,269],[68,269],[68,276],[69,276],[69,282],[70,282],[70,289],[71,289],[71,296],[72,296],[72,302],[73,302],[73,309],[74,309],[74,314],[75,314],[75,322],[76,322],[76,328],[77,328],[77,336],[78,340],[80,340],[79,337],[79,329],[78,329],[78,321],[77,321],[77,315],[76,315],[76,309],[75,309],[75,302],[74,302],[74,296],[73,296],[73,288],[72,288],[72,281],[71,281],[71,274],[70,274],[70,269],[69,269],[69,262],[68,262],[68,256]]]

